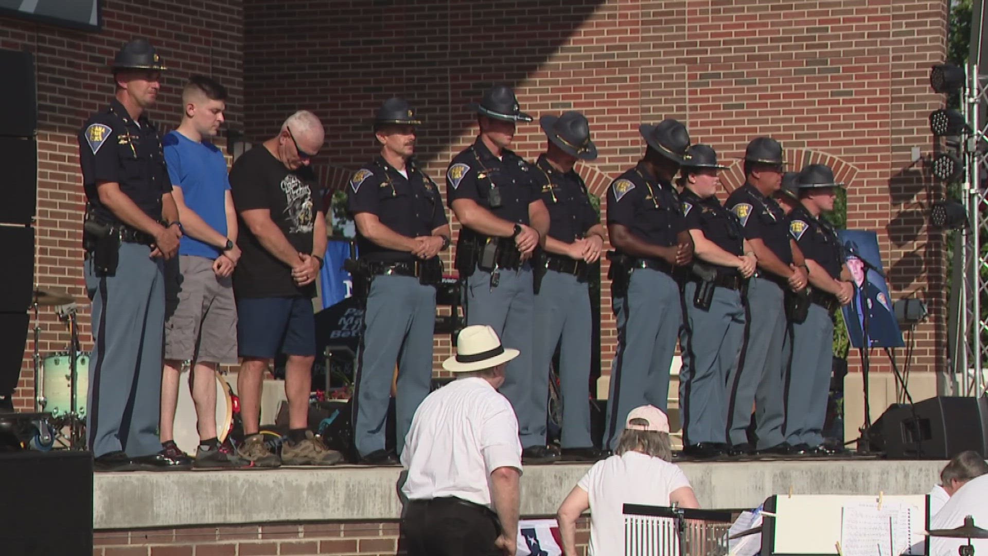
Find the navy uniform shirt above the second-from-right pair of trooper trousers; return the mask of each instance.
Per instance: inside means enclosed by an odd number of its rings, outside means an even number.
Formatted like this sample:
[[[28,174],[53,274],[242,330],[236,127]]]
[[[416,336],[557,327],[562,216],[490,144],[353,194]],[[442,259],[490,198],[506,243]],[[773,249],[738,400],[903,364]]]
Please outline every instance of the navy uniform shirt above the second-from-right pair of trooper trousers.
[[[724,206],[738,217],[745,239],[761,239],[782,264],[792,264],[789,219],[775,199],[762,195],[754,185],[746,183],[727,197]]]

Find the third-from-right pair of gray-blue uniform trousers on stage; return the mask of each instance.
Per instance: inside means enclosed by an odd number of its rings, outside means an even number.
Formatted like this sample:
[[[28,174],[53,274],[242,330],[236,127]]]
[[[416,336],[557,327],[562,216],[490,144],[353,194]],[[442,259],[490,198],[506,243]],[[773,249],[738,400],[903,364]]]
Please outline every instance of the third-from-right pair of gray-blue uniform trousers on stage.
[[[680,329],[680,419],[685,445],[727,442],[727,376],[737,364],[744,341],[745,315],[741,292],[716,287],[706,311],[693,298],[697,283],[683,293]]]

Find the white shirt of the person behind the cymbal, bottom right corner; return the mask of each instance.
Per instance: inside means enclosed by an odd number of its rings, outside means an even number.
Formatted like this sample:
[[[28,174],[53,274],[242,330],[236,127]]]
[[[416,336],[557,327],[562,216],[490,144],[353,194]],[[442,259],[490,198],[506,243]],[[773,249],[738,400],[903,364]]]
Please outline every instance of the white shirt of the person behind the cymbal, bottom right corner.
[[[964,516],[974,518],[974,525],[988,529],[988,475],[971,479],[953,493],[947,504],[930,519],[931,529],[952,529],[964,524]],[[930,537],[930,556],[956,556],[966,539]],[[971,539],[974,554],[988,554],[988,539]]]

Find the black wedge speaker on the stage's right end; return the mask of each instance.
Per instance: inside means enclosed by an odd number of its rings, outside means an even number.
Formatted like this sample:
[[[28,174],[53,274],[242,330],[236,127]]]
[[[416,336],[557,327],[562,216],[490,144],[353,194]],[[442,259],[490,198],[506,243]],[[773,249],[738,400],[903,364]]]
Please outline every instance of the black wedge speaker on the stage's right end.
[[[941,396],[893,404],[871,425],[871,448],[889,459],[949,459],[964,450],[988,455],[988,398]]]

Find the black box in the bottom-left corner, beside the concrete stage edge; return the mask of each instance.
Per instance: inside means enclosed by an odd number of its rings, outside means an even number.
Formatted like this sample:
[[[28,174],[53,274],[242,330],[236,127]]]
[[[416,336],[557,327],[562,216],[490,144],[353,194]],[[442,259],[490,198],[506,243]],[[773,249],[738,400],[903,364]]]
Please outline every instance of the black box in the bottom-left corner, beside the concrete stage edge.
[[[0,477],[0,554],[92,556],[92,453],[0,452]]]

